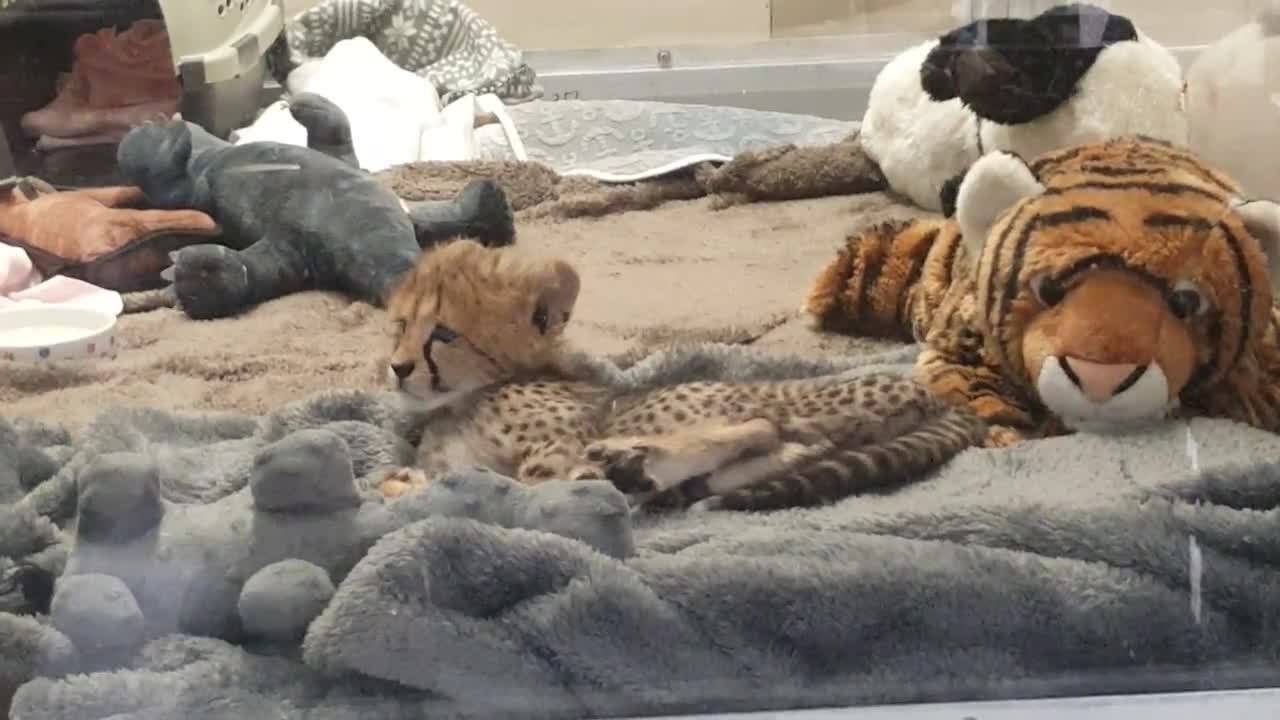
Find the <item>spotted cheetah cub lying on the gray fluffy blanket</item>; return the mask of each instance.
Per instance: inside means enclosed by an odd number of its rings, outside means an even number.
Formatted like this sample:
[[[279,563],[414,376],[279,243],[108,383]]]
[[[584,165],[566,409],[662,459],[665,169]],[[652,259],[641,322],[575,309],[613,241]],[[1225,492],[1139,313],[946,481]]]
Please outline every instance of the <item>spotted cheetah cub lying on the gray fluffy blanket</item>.
[[[607,479],[632,505],[810,506],[909,480],[984,436],[968,410],[887,374],[593,382],[563,337],[577,273],[516,252],[456,241],[424,254],[392,293],[387,375],[430,410],[419,466],[389,473],[385,496],[483,465],[524,483]]]

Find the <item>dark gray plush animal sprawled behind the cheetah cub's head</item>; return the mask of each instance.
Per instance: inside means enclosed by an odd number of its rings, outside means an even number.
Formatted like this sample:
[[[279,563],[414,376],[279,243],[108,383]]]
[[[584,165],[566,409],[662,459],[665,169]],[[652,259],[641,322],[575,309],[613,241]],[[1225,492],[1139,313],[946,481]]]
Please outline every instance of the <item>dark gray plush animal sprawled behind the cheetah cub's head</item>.
[[[425,246],[515,241],[511,205],[493,181],[451,201],[403,204],[355,164],[340,109],[308,95],[291,109],[315,147],[232,145],[183,120],[133,128],[120,142],[120,173],[155,208],[202,210],[224,231],[221,245],[184,247],[165,270],[187,315],[234,315],[302,290],[381,305]]]

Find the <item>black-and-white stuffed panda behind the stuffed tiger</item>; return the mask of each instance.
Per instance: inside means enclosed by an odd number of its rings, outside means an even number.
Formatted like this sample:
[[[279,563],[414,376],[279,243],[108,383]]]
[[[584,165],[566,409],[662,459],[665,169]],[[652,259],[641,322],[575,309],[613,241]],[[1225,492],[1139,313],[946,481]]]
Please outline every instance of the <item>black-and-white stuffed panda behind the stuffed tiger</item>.
[[[1117,135],[1181,145],[1187,132],[1178,59],[1128,18],[1071,4],[900,54],[872,86],[860,140],[892,190],[943,210],[947,181],[992,150],[1034,158]]]

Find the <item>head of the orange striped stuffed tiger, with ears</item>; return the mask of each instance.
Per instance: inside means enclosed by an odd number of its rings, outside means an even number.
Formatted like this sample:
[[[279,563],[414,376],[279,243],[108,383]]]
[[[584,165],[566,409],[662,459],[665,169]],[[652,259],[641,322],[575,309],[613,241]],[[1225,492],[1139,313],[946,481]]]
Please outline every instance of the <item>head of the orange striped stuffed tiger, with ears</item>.
[[[987,352],[1069,428],[1166,415],[1248,364],[1268,327],[1280,206],[1170,145],[987,155],[956,220]]]

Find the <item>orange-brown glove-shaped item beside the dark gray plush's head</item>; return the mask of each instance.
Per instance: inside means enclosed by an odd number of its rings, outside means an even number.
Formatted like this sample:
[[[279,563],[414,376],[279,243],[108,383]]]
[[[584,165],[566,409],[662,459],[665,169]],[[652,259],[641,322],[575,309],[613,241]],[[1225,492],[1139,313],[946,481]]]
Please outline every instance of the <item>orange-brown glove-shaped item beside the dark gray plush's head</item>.
[[[142,201],[134,187],[59,191],[38,178],[8,178],[0,181],[0,242],[26,250],[44,277],[123,292],[159,287],[169,252],[220,229],[198,210],[148,210]]]

